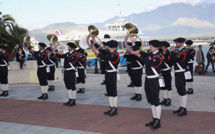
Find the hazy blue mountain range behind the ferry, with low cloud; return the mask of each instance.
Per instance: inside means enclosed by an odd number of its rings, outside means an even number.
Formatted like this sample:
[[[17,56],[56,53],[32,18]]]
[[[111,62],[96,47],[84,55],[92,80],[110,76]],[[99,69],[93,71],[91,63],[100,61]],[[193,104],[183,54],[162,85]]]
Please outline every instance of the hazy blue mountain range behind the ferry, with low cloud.
[[[158,7],[150,12],[142,12],[124,16],[125,21],[137,24],[144,34],[152,38],[175,36],[211,36],[215,34],[215,4],[190,5],[174,3]],[[117,16],[103,23],[94,23],[97,28],[104,29],[107,23],[114,23]],[[131,21],[132,20],[132,21]],[[37,40],[46,40],[46,35],[61,29],[64,33],[78,30],[87,31],[90,24],[75,24],[73,22],[50,24],[42,29],[31,30],[30,35]]]

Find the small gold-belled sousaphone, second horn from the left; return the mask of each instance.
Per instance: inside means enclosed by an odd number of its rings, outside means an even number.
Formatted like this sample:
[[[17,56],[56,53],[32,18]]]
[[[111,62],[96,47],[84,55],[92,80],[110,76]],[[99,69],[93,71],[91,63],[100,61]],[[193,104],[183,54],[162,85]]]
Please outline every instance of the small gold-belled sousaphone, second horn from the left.
[[[58,42],[58,38],[54,34],[47,35],[47,39],[50,41],[50,48],[54,51],[57,48],[58,51],[63,51],[63,45]]]

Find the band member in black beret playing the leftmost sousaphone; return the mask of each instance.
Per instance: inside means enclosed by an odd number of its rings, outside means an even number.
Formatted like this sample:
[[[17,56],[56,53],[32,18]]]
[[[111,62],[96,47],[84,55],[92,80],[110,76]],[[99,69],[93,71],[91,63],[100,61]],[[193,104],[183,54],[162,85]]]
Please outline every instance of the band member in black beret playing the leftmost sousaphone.
[[[47,81],[47,71],[46,71],[46,63],[48,60],[48,55],[46,53],[46,44],[40,42],[39,43],[39,51],[33,51],[31,48],[29,52],[36,58],[37,60],[37,76],[39,79],[39,83],[41,86],[42,95],[38,97],[38,99],[46,100],[48,99],[48,81]]]

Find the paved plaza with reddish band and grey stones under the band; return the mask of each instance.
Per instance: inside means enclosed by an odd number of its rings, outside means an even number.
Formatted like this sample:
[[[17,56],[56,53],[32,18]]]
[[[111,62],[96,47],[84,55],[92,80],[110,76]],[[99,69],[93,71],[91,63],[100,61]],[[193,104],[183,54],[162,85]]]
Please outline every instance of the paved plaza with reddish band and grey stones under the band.
[[[130,100],[134,89],[127,87],[130,80],[125,68],[121,69],[121,80],[118,81],[119,115],[115,117],[103,115],[108,106],[108,98],[104,96],[105,86],[100,85],[104,75],[93,74],[92,69],[87,72],[86,92],[77,94],[75,107],[65,107],[62,104],[68,100],[63,82],[56,83],[56,90],[49,92],[49,99],[46,101],[37,100],[41,94],[38,84],[10,85],[10,96],[0,99],[0,134],[215,133],[215,73],[195,74],[194,94],[188,96],[186,117],[172,114],[172,110],[179,106],[173,79],[172,105],[162,107],[162,128],[152,131],[144,126],[151,120],[150,105],[144,92],[142,101]],[[162,99],[162,93],[160,98]]]

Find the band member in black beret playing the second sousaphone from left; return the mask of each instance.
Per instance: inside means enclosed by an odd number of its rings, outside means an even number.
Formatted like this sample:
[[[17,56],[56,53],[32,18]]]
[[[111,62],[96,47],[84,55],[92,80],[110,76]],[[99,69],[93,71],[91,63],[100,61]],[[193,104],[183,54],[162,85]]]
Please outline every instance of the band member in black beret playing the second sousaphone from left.
[[[77,46],[69,42],[67,43],[69,52],[63,54],[61,52],[56,52],[59,57],[64,58],[64,83],[66,85],[69,100],[64,103],[65,106],[75,106],[76,105],[76,86],[75,86],[75,66],[78,62],[78,53],[76,52]]]

